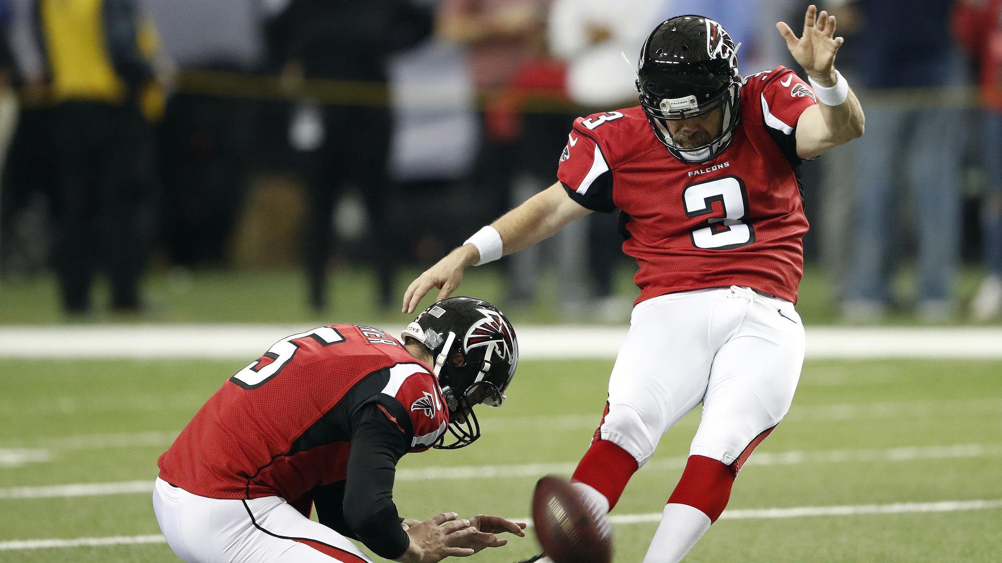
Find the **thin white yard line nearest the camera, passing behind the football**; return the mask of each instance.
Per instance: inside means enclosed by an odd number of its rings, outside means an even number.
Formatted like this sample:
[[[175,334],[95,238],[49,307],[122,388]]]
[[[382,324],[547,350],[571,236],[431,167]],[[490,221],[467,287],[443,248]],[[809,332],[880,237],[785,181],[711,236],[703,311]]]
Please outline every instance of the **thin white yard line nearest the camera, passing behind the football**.
[[[967,510],[988,510],[1002,508],[1002,500],[992,501],[943,501],[933,503],[864,504],[847,506],[801,506],[794,508],[758,508],[724,510],[720,520],[753,520],[771,518],[803,518],[808,516],[853,516],[858,514],[909,514],[922,512],[959,512]],[[529,518],[514,518],[526,522]],[[612,524],[646,524],[661,521],[661,513],[614,514],[609,516]],[[126,544],[166,543],[163,536],[112,536],[108,538],[76,538],[72,540],[15,540],[0,542],[0,551],[40,549],[53,547],[84,547]]]

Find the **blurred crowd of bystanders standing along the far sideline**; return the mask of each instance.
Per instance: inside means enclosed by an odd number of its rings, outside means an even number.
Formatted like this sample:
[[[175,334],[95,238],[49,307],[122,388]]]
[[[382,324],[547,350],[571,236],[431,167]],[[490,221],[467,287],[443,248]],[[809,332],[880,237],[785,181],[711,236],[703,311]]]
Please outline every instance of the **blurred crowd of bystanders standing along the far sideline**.
[[[401,267],[555,180],[575,116],[636,104],[620,53],[656,23],[706,15],[742,74],[800,71],[775,23],[809,3],[0,0],[2,283],[54,275],[85,316],[98,276],[129,312],[150,271],[295,267],[337,311],[331,269],[363,264],[394,308]],[[846,322],[997,319],[1002,0],[819,7],[867,132],[803,166],[812,271]],[[502,261],[505,303],[545,273],[566,318],[625,320],[620,242],[614,215],[575,221]]]

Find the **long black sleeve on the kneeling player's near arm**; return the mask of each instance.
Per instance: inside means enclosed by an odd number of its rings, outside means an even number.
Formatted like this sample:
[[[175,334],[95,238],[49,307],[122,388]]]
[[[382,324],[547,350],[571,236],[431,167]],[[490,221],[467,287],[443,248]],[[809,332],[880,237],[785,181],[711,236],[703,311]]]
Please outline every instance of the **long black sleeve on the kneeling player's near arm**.
[[[386,559],[400,557],[410,545],[393,503],[397,462],[409,445],[410,437],[381,404],[369,403],[360,408],[352,420],[352,452],[342,502],[344,524],[333,515],[329,520],[332,528],[349,528],[353,533],[350,537]],[[320,505],[317,512],[322,517]],[[330,509],[327,512],[330,514]]]

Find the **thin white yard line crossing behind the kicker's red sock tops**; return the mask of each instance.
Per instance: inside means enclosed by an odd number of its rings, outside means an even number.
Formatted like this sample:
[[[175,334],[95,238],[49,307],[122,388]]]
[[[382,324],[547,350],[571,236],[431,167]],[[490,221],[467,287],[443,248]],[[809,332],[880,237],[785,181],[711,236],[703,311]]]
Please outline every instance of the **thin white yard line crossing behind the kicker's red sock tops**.
[[[758,452],[746,466],[799,465],[839,462],[903,462],[959,458],[1002,457],[1002,444],[957,444],[891,448],[887,450],[830,450],[820,452]],[[654,458],[641,471],[664,471],[685,467],[686,458]],[[549,473],[570,474],[577,462],[533,463],[520,465],[474,465],[456,467],[402,468],[397,481],[458,481],[467,479],[513,479],[541,477]],[[0,489],[0,499],[39,499],[53,497],[90,497],[149,493],[152,481],[122,481],[117,483],[76,483],[43,487],[10,487]]]

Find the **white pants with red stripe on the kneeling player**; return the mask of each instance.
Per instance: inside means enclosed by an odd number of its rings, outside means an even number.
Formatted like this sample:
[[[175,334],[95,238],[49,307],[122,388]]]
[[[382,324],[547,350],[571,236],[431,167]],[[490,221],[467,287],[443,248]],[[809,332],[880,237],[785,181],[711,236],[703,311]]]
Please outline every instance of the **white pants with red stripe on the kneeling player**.
[[[372,563],[280,497],[210,499],[157,478],[153,511],[167,545],[187,563]]]

